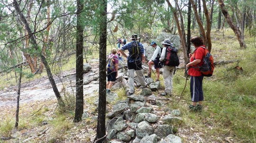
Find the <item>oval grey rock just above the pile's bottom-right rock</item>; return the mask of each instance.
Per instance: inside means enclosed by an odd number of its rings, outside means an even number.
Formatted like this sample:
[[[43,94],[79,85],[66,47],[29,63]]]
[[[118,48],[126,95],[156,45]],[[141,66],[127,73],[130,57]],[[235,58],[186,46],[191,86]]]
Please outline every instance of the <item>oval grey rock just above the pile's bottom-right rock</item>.
[[[173,133],[173,126],[159,125],[155,129],[155,134],[160,138],[165,138],[167,135],[174,134]]]

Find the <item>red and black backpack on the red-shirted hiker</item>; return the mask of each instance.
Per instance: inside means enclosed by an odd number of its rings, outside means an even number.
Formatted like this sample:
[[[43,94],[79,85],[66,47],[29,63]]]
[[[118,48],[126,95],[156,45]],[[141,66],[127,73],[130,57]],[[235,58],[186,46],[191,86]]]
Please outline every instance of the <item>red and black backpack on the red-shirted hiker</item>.
[[[199,67],[200,72],[203,76],[212,76],[214,65],[213,65],[213,58],[210,54],[210,52],[201,46],[201,48],[204,49],[204,57],[203,57],[203,64],[201,67]]]

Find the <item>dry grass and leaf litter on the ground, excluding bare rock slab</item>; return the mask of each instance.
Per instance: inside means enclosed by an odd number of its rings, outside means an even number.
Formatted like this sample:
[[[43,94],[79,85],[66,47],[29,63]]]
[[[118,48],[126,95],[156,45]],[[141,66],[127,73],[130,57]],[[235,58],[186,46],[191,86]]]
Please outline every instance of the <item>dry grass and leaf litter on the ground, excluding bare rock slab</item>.
[[[183,75],[184,71],[177,70],[177,74],[174,75],[174,96],[171,97],[172,101],[166,105],[171,109],[180,109],[182,112],[183,124],[177,125],[176,135],[182,138],[183,143],[256,143],[256,48],[254,48],[254,40],[245,34],[247,48],[240,49],[236,36],[231,30],[226,31],[224,37],[222,37],[222,32],[211,32],[211,38],[211,54],[215,61],[236,59],[237,62],[218,65],[215,67],[213,76],[204,78],[205,101],[201,113],[190,112],[188,109],[191,103],[189,82],[179,101],[185,86],[185,79],[179,76]],[[71,58],[68,63],[62,68],[73,69],[72,63],[75,63],[75,59]],[[236,68],[237,66],[239,68]],[[4,78],[6,77],[1,77],[0,81],[2,89],[15,85],[15,79],[5,83]],[[29,81],[36,78],[39,76],[31,77]],[[155,78],[154,74],[153,78]],[[162,75],[160,81],[164,85]],[[116,92],[120,100],[126,98],[123,90]],[[157,93],[155,92],[155,95]],[[60,109],[55,100],[20,105],[18,132],[13,129],[16,107],[2,106],[0,108],[0,137],[13,136],[15,139],[0,140],[0,143],[16,143],[33,135],[38,135],[38,137],[30,140],[30,143],[91,143],[96,135],[97,120],[88,118],[82,120],[81,123],[73,123],[75,107],[73,97],[74,95],[65,93],[65,99],[70,103],[65,109]],[[84,109],[91,113],[95,110],[92,102],[87,99],[84,103]],[[107,106],[111,108],[111,105]],[[51,118],[51,120],[44,126],[42,122],[46,118]],[[47,128],[49,129],[46,134],[39,134]]]

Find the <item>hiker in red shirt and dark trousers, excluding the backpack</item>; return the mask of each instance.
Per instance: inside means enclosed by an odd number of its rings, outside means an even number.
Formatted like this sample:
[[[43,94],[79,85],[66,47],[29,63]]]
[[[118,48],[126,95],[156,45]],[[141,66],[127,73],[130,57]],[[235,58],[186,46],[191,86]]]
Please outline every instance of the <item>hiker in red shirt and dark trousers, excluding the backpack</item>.
[[[189,108],[193,111],[202,110],[203,91],[202,91],[202,80],[203,76],[199,70],[204,58],[203,40],[201,37],[196,36],[190,39],[190,42],[195,47],[194,53],[189,54],[190,62],[186,65],[189,68],[189,75],[191,76],[190,81],[190,93],[192,105]]]

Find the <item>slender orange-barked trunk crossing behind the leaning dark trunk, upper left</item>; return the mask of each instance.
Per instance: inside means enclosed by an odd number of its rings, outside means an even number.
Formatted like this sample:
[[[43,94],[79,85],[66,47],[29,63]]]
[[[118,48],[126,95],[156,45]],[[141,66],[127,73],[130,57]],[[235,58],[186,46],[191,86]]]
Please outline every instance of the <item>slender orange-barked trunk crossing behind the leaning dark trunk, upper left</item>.
[[[44,37],[44,46],[43,46],[43,49],[42,49],[42,54],[46,57],[46,48],[47,48],[47,42],[48,42],[48,36],[49,36],[49,31],[50,31],[50,28],[51,28],[51,18],[50,18],[50,3],[49,3],[49,0],[47,0],[47,28],[46,28],[46,31],[47,33],[45,34],[45,37]],[[43,72],[43,68],[44,68],[44,63],[41,61],[41,64],[40,64],[40,67],[39,67],[39,73],[42,73]]]

